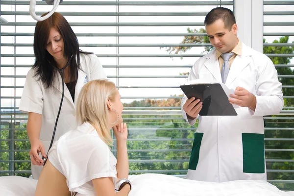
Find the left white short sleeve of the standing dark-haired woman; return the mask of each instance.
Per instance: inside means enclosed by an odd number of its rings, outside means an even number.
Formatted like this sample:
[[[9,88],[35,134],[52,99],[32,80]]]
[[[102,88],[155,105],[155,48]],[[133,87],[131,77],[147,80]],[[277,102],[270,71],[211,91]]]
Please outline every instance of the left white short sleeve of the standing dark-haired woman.
[[[34,112],[42,114],[43,92],[41,81],[34,77],[34,70],[30,69],[26,75],[23,95],[19,110],[25,113]]]

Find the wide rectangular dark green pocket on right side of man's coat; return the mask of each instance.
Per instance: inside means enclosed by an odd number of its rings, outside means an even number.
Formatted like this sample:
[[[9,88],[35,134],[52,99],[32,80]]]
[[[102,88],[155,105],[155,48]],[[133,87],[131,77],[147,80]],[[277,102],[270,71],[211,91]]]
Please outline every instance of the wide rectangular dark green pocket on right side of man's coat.
[[[242,133],[244,173],[265,172],[264,142],[264,134]]]

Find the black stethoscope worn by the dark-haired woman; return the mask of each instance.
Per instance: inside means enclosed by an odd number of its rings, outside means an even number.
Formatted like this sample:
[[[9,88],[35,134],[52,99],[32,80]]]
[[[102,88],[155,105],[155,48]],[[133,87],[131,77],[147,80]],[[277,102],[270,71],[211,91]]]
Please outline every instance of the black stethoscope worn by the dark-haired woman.
[[[65,64],[65,66],[61,69],[58,69],[57,67],[53,66],[50,61],[49,61],[49,64],[57,71],[60,71],[60,74],[61,74],[61,78],[62,78],[62,96],[61,96],[61,100],[60,100],[60,105],[59,105],[59,110],[58,110],[58,113],[57,113],[57,117],[56,117],[56,121],[55,121],[55,125],[54,125],[54,130],[53,130],[53,134],[52,134],[52,138],[51,138],[51,142],[50,142],[50,146],[49,146],[49,149],[48,149],[48,152],[46,154],[47,158],[48,158],[48,153],[49,153],[49,150],[50,148],[52,147],[52,144],[53,144],[53,141],[54,141],[54,137],[55,137],[55,132],[56,132],[56,127],[57,127],[57,123],[58,123],[58,119],[59,119],[59,114],[60,114],[60,111],[61,111],[61,106],[62,106],[62,102],[63,102],[63,98],[64,98],[64,70],[65,68],[70,64],[70,61],[72,60],[73,58],[73,54],[71,56],[71,58],[68,60],[68,62]],[[46,164],[46,161],[47,161],[47,158],[45,158],[44,156],[42,156],[42,160],[44,161],[43,163],[43,166],[45,166]]]

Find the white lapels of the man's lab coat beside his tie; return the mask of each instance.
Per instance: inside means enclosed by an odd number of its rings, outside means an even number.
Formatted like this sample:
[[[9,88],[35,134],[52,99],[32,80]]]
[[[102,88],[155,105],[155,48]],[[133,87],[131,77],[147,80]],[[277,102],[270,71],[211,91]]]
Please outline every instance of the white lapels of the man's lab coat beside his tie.
[[[244,43],[242,43],[242,55],[237,55],[235,60],[233,61],[225,85],[230,86],[230,84],[236,79],[236,77],[242,72],[242,70],[247,65],[249,65],[251,61],[250,57],[253,55],[254,52],[255,51],[253,49],[247,47]],[[216,59],[215,57],[216,49],[204,55],[203,58],[206,59],[204,62],[204,66],[209,70],[209,72],[218,82],[221,82],[219,59]]]

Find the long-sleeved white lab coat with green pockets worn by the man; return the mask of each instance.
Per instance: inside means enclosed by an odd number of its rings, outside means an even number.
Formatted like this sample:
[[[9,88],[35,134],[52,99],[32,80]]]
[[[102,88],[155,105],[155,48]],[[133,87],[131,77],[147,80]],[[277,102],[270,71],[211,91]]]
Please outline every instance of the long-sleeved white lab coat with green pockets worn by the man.
[[[234,59],[225,85],[243,87],[256,97],[256,109],[236,109],[238,116],[198,116],[199,124],[190,157],[188,179],[224,182],[266,179],[263,116],[278,114],[284,105],[282,84],[270,58],[242,44],[242,55]],[[201,57],[188,80],[221,82],[216,50]],[[182,99],[182,115],[190,125]]]

